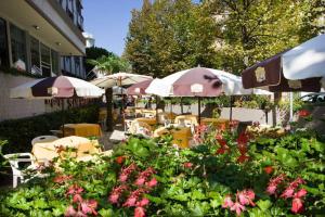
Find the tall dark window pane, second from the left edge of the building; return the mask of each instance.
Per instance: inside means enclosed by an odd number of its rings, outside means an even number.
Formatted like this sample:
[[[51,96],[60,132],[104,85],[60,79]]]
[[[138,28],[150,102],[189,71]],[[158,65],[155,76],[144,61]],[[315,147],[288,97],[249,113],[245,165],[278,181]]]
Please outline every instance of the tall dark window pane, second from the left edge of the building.
[[[18,60],[25,63],[25,69],[27,68],[26,65],[26,36],[25,31],[20,29],[13,24],[10,24],[10,38],[11,38],[11,51],[12,51],[12,61],[13,63],[17,62]]]

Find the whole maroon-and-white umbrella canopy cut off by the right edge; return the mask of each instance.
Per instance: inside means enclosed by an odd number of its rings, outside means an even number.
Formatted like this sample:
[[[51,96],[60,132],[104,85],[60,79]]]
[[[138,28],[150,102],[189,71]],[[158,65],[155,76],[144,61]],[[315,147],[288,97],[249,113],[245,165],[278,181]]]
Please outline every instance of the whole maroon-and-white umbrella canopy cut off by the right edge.
[[[289,51],[277,53],[242,74],[244,88],[265,88],[272,92],[318,92],[325,76],[325,48],[321,35]],[[290,79],[287,79],[287,78]]]

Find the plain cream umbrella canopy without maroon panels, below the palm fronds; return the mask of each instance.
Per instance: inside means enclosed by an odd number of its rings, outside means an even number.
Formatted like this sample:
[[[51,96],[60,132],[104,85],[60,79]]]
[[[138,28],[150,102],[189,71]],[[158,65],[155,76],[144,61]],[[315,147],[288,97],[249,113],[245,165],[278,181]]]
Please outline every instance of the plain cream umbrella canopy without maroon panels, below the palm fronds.
[[[151,76],[130,74],[130,73],[116,73],[101,78],[96,78],[91,84],[101,88],[112,88],[114,86],[128,86],[144,80],[153,79]]]

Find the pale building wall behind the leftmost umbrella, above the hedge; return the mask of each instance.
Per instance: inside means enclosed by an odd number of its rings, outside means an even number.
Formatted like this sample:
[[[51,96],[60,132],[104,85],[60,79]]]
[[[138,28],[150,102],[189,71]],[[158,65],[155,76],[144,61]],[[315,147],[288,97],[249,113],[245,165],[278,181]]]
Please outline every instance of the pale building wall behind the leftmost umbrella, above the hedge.
[[[44,100],[10,99],[10,89],[34,80],[25,76],[13,76],[0,72],[0,122],[51,112]]]

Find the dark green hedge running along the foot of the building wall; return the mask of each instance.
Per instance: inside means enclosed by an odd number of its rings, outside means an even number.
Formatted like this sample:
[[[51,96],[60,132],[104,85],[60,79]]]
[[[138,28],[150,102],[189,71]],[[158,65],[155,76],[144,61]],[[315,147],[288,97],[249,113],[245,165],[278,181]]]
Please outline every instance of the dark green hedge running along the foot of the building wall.
[[[41,135],[51,135],[50,130],[58,129],[65,123],[98,123],[99,106],[88,105],[64,112],[54,112],[22,119],[0,123],[0,140],[8,140],[3,153],[30,152],[30,141]]]

